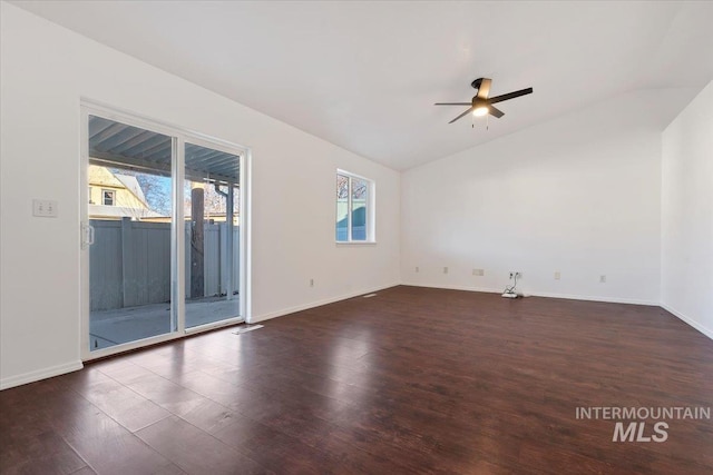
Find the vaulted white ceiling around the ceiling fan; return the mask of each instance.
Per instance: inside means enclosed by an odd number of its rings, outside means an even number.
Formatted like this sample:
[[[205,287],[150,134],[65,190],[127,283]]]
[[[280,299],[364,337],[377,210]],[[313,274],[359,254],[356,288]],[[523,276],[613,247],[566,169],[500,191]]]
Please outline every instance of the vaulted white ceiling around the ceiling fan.
[[[13,3],[394,169],[713,78],[703,1]],[[498,105],[489,130],[449,125],[465,108],[433,102],[469,101],[478,77],[492,78],[491,96],[535,93]]]

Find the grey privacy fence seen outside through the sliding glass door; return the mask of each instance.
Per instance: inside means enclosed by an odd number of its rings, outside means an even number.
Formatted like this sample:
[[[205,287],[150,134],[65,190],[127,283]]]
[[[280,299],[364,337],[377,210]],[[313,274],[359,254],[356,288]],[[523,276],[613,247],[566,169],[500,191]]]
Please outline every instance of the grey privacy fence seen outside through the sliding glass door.
[[[91,219],[91,310],[170,301],[170,224]],[[186,298],[191,295],[191,226],[185,225]],[[227,224],[204,225],[204,296],[227,294]],[[233,228],[233,293],[238,288],[240,227]]]

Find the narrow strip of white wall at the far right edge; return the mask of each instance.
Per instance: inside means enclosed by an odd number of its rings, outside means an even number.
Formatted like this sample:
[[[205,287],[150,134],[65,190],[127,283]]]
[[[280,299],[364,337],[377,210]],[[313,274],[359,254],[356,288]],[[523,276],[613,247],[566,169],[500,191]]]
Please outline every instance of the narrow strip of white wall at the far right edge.
[[[713,82],[663,133],[662,306],[713,338]]]

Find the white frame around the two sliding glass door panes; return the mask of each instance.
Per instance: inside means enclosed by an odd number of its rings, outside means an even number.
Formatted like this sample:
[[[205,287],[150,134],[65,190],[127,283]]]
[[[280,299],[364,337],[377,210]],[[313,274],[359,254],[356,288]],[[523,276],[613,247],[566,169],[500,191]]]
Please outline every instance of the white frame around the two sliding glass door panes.
[[[163,133],[172,138],[172,238],[170,238],[170,316],[172,331],[155,337],[144,338],[126,344],[90,350],[89,317],[89,197],[88,197],[88,167],[89,167],[89,116],[97,116],[134,127],[140,127],[148,131]],[[82,98],[80,102],[80,304],[81,304],[81,335],[80,356],[82,360],[91,360],[114,354],[143,348],[176,338],[183,338],[187,334],[206,331],[209,329],[235,325],[251,320],[251,150],[248,147],[217,139],[201,132],[195,132],[178,126],[165,123],[140,115],[107,106],[91,99]],[[240,243],[238,243],[238,308],[240,316],[225,320],[206,324],[186,329],[185,326],[185,246],[184,232],[185,210],[184,179],[185,179],[185,144],[195,144],[215,150],[225,151],[240,157]]]

